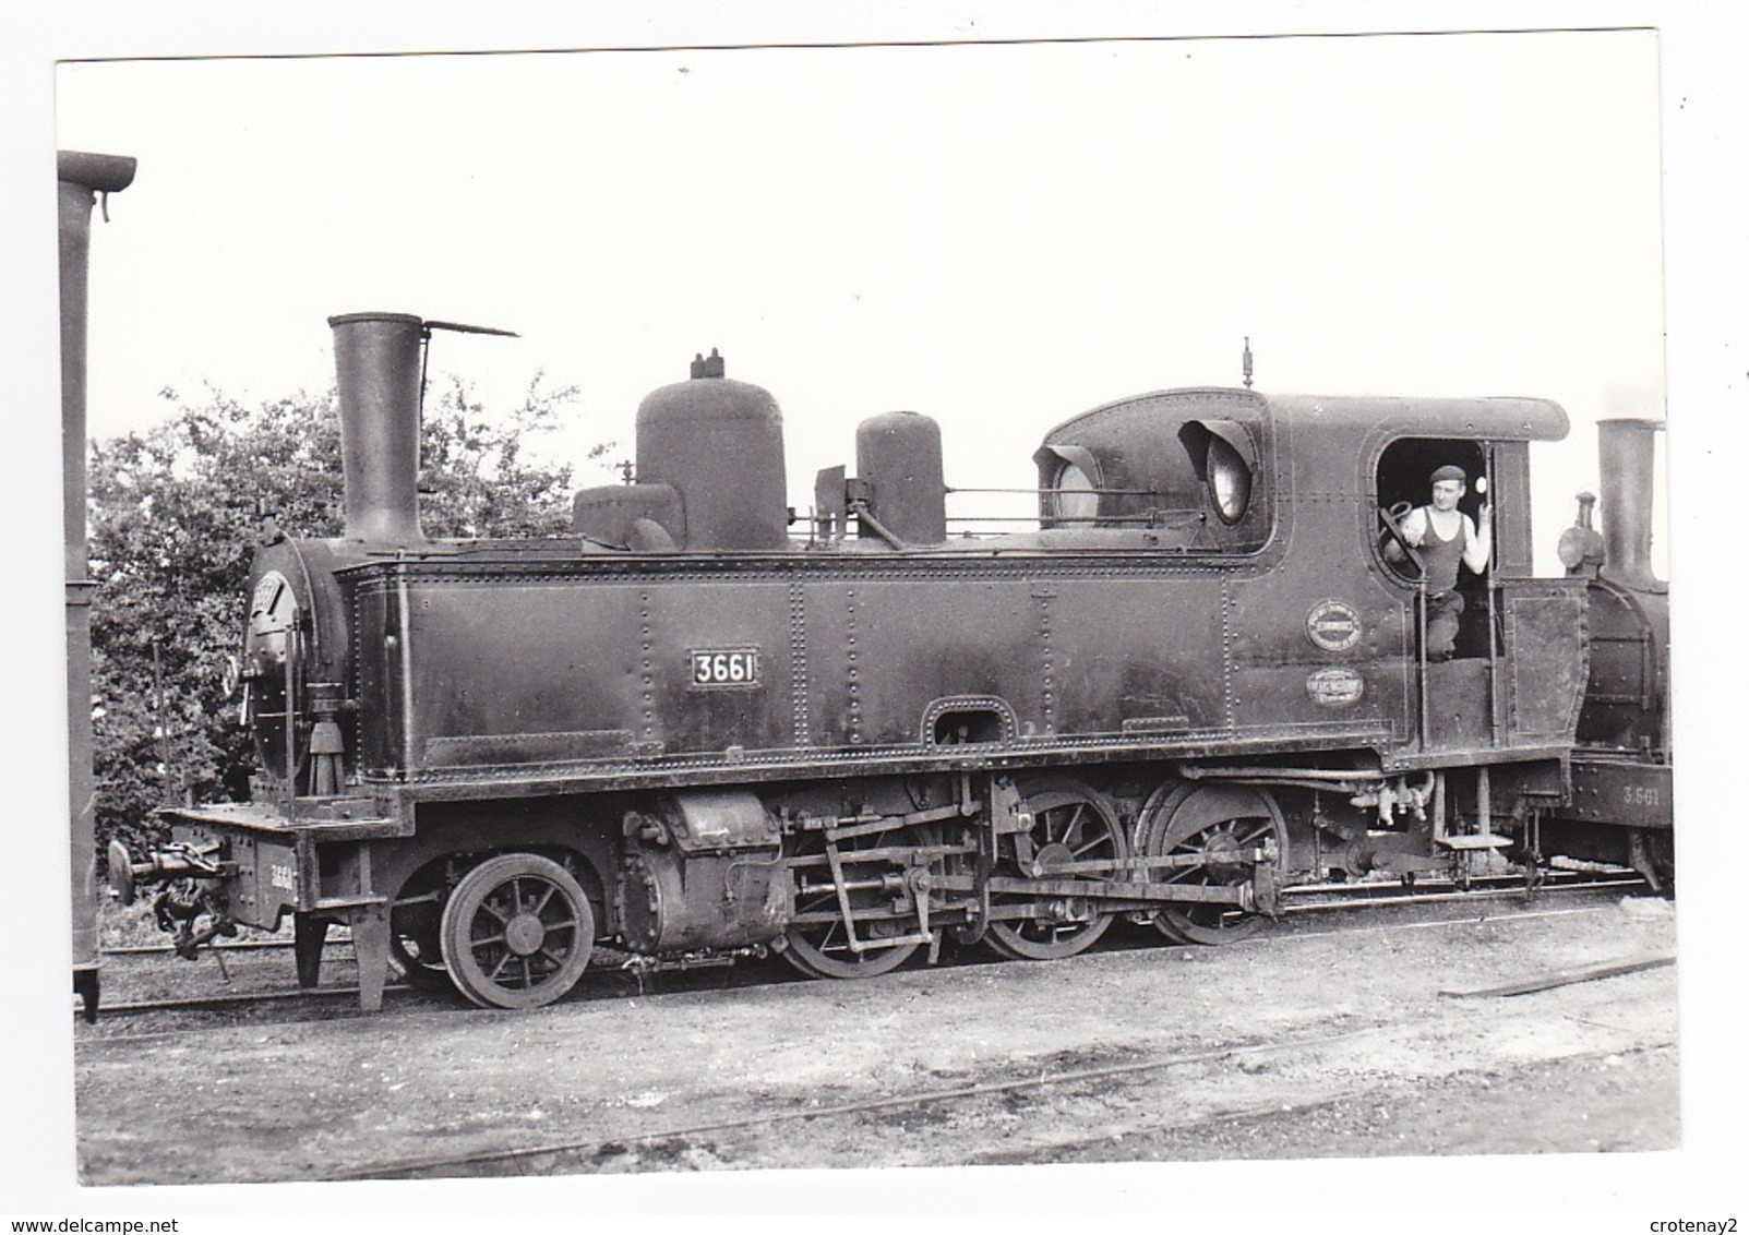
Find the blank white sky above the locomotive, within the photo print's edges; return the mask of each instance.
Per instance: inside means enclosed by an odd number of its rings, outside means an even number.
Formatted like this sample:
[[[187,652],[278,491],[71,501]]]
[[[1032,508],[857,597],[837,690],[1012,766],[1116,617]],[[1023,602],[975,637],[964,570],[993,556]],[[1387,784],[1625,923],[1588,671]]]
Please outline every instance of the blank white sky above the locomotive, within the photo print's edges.
[[[1590,422],[1663,415],[1653,31],[79,63],[65,149],[140,177],[93,241],[91,432],[164,387],[332,381],[325,317],[514,329],[434,367],[577,385],[631,448],[721,346],[785,409],[791,500],[857,420],[1027,486],[1053,423],[1238,381],[1537,394],[1544,555]],[[1539,476],[1539,481],[1544,478]],[[1030,504],[1020,504],[1027,509]],[[1663,537],[1660,537],[1660,551]],[[1548,569],[1553,567],[1550,556]]]

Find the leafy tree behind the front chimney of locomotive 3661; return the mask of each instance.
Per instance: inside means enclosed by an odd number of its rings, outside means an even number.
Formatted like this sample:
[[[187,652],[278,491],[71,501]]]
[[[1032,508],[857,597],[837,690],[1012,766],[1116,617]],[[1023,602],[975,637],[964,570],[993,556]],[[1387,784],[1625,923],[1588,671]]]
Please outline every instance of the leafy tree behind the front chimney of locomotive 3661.
[[[177,401],[171,390],[166,399]],[[458,380],[422,425],[427,535],[551,535],[570,521],[570,465],[532,460],[575,390],[540,378],[507,416]],[[610,444],[589,451],[605,458]],[[157,838],[171,801],[247,798],[255,761],[224,693],[247,618],[248,563],[271,520],[292,537],[343,520],[334,394],[243,406],[219,392],[149,432],[91,446],[89,551],[98,847]]]

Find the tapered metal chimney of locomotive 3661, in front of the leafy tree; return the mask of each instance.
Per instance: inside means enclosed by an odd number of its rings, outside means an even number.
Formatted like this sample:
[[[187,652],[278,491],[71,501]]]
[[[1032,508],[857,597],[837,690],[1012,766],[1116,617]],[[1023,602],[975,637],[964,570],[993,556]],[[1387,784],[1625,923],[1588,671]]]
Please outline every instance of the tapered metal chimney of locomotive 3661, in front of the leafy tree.
[[[409,313],[331,317],[339,374],[346,539],[423,544],[420,532],[420,360],[425,322]]]

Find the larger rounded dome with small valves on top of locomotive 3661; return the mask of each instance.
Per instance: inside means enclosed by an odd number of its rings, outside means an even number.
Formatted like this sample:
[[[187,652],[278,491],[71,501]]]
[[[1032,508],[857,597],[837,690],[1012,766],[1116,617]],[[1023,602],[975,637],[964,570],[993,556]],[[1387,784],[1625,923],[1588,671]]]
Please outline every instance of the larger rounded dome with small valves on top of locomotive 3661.
[[[654,390],[638,404],[637,467],[638,485],[672,485],[680,493],[680,549],[789,546],[784,416],[770,392],[722,376],[715,352],[693,362],[691,381]]]

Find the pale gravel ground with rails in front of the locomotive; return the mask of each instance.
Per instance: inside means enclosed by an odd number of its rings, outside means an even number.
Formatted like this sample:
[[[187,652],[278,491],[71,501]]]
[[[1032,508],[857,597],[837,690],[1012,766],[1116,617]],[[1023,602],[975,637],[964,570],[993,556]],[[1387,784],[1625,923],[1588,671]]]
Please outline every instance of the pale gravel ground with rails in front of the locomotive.
[[[117,1016],[77,1032],[79,1169],[142,1184],[1676,1148],[1674,967],[1453,997],[1676,948],[1667,901],[1544,910],[1298,918],[1219,950],[864,983],[663,980],[532,1013],[406,997],[359,1018]],[[283,953],[229,967],[290,985]],[[107,976],[107,999],[128,981]]]

